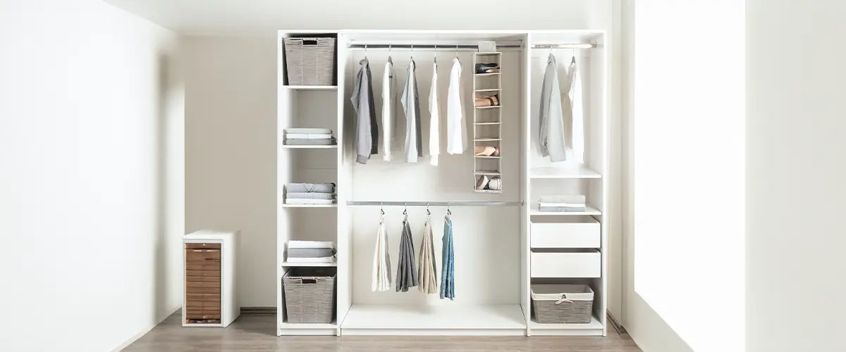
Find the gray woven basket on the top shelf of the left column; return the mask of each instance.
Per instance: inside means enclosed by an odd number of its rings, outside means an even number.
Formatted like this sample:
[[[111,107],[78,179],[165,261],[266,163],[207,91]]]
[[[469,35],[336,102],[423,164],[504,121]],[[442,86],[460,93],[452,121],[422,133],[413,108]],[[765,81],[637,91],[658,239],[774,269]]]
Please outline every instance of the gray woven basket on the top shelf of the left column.
[[[285,38],[288,85],[332,85],[335,38]]]

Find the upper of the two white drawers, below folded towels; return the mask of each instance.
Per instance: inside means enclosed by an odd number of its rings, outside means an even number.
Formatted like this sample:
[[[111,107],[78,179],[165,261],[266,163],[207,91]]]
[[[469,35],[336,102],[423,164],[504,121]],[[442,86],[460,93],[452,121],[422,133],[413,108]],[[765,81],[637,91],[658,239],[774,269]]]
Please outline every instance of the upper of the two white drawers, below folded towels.
[[[590,216],[539,219],[531,223],[532,248],[599,248],[599,222]]]

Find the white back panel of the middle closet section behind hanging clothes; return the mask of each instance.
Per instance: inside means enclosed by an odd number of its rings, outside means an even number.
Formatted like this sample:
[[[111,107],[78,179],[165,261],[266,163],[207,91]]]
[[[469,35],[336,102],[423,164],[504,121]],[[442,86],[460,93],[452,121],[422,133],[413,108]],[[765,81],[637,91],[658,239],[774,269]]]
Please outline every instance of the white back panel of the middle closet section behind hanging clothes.
[[[402,91],[409,64],[410,51],[393,51],[393,69],[398,93]],[[504,51],[502,55],[503,91],[502,100],[503,143],[503,193],[474,193],[471,185],[473,176],[473,53],[459,51],[459,59],[464,65],[462,75],[462,95],[464,114],[467,118],[468,144],[464,154],[446,153],[447,133],[447,91],[449,73],[453,66],[455,51],[448,48],[437,51],[438,62],[438,100],[440,103],[440,160],[439,165],[429,164],[429,95],[433,60],[436,51],[415,51],[417,89],[420,97],[420,127],[424,156],[418,163],[404,161],[405,116],[402,105],[398,105],[398,133],[392,149],[393,160],[382,160],[380,154],[373,155],[367,165],[352,165],[352,187],[350,199],[353,200],[394,200],[394,201],[451,201],[451,200],[496,200],[519,201],[520,194],[520,116],[522,110],[521,75],[522,57],[520,51]],[[369,51],[366,53],[371,64],[373,92],[376,101],[376,119],[381,127],[382,111],[382,73],[387,62],[388,51]],[[346,126],[354,127],[354,113],[349,102],[355,73],[359,62],[365,57],[365,51],[349,51],[346,62],[344,82],[344,105]],[[350,142],[344,153],[353,154],[351,142],[354,140],[354,128],[345,128],[345,138]],[[376,241],[376,229],[379,221],[378,207],[355,207],[351,210],[352,252],[353,255],[353,303],[372,305],[420,305],[430,302],[432,305],[485,305],[519,304],[520,302],[520,217],[518,207],[456,207],[453,211],[453,233],[455,251],[456,299],[442,301],[438,295],[422,295],[417,292],[396,293],[371,292],[371,270],[373,251]],[[392,259],[392,276],[396,275],[399,237],[402,233],[403,208],[385,207],[388,245]],[[446,208],[431,208],[433,236],[435,242],[438,279],[441,270],[441,239],[443,216]],[[414,237],[415,258],[420,251],[426,208],[409,208],[409,221]]]

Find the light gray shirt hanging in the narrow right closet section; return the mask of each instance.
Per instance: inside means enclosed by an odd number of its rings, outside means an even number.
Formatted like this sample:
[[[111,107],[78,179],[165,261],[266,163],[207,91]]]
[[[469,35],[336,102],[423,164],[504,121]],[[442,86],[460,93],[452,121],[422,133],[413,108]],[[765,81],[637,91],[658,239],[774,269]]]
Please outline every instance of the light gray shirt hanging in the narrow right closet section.
[[[538,141],[541,144],[541,155],[549,156],[550,161],[567,160],[563,118],[561,88],[558,86],[558,63],[555,62],[555,56],[549,54],[547,71],[543,73],[541,86],[541,128]]]

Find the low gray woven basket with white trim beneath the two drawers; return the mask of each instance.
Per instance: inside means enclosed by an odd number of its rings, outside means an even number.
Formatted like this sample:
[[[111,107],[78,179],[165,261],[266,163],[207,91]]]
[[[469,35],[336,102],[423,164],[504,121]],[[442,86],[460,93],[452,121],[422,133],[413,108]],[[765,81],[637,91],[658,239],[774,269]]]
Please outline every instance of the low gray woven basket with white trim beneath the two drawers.
[[[531,300],[536,322],[591,322],[593,290],[586,284],[533,284]]]

